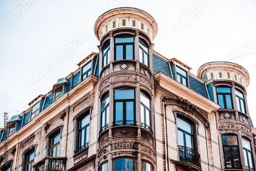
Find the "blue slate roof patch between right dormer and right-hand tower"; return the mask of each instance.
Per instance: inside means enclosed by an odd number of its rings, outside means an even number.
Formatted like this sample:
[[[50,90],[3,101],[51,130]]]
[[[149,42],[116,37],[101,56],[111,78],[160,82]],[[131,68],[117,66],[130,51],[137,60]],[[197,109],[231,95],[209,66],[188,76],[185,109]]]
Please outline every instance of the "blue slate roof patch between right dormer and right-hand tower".
[[[197,80],[193,76],[188,75],[189,88],[195,92],[201,94],[208,99],[207,91],[203,82]]]

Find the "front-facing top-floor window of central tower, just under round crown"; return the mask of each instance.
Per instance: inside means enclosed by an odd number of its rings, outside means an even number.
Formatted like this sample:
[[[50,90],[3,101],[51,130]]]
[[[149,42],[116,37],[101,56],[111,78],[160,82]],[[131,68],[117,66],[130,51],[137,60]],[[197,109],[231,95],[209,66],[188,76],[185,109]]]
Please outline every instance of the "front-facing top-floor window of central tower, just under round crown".
[[[115,60],[134,60],[134,37],[115,37]]]

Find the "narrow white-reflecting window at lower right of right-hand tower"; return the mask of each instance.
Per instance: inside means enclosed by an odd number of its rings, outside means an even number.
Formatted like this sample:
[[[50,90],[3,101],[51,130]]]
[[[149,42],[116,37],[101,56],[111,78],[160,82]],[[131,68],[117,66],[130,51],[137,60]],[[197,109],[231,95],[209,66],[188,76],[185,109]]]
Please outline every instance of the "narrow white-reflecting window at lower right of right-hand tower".
[[[242,143],[243,143],[243,152],[244,152],[244,162],[246,170],[254,170],[254,164],[253,164],[253,155],[251,151],[251,144],[250,141],[242,137]]]

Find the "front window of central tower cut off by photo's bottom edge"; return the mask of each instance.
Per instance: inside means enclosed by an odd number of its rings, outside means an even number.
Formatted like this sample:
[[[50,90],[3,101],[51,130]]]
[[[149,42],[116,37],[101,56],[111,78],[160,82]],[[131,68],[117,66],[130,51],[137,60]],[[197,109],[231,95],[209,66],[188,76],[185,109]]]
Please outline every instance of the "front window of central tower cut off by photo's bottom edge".
[[[135,160],[133,159],[118,159],[114,161],[114,171],[135,170]]]

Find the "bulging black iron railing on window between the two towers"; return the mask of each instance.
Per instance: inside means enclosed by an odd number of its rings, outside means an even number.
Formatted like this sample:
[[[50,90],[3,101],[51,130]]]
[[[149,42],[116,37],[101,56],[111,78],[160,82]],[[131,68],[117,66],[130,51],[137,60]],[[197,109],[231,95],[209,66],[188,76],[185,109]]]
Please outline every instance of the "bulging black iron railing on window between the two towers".
[[[179,145],[180,161],[195,164],[201,168],[200,154],[194,149]]]

